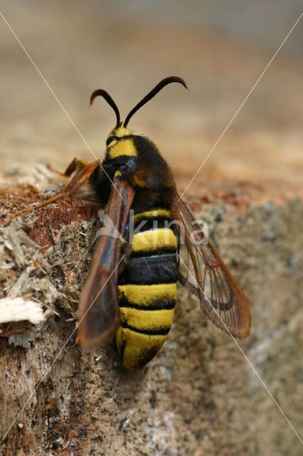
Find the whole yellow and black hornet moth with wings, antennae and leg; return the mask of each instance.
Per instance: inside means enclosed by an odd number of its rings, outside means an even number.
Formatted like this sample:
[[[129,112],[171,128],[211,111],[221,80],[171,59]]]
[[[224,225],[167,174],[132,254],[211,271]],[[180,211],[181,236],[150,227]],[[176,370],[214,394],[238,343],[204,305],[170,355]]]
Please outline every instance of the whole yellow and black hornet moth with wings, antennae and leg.
[[[92,350],[116,336],[122,363],[131,370],[149,363],[166,340],[174,319],[177,281],[198,296],[215,326],[235,338],[250,333],[243,291],[179,197],[169,165],[154,142],[127,127],[132,115],[169,83],[187,88],[182,78],[164,78],[134,106],[123,125],[110,95],[95,90],[90,105],[102,96],[117,120],[107,136],[105,159],[89,164],[76,157],[65,171],[66,176],[75,175],[63,192],[6,222],[59,198],[73,197],[84,185],[90,187],[112,228],[97,240],[80,296],[80,345]],[[181,237],[196,283],[180,271]]]

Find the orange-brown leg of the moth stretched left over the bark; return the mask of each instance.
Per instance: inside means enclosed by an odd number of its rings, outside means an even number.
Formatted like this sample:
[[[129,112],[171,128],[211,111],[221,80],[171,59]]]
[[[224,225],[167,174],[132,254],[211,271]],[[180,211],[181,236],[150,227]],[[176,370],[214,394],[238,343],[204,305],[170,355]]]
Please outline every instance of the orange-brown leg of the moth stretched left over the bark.
[[[83,160],[83,159],[81,159],[81,160],[82,160],[82,165],[83,165],[85,160]],[[75,159],[73,160],[73,162],[74,161],[75,161]],[[72,163],[69,165],[70,168],[73,168]],[[18,212],[15,212],[15,214],[12,214],[11,217],[6,219],[6,221],[4,222],[4,227],[6,227],[6,225],[8,225],[12,219],[14,219],[15,217],[18,217],[18,215],[27,214],[28,212],[31,212],[31,211],[36,211],[38,209],[41,209],[41,207],[48,206],[48,204],[58,201],[58,199],[63,199],[63,198],[68,198],[68,197],[72,198],[78,192],[78,190],[80,190],[80,187],[83,187],[83,185],[87,184],[87,182],[90,179],[90,176],[97,169],[100,169],[100,160],[96,160],[95,162],[92,162],[88,165],[83,165],[82,169],[80,169],[77,172],[77,174],[75,174],[73,179],[70,180],[70,182],[68,182],[67,185],[65,185],[62,192],[58,193],[58,195],[55,195],[54,197],[48,198],[45,201],[36,204],[35,206],[24,207],[23,209],[19,210]],[[77,170],[76,165],[75,165],[74,170]],[[73,170],[70,171],[70,174],[72,174],[72,172],[73,172]]]

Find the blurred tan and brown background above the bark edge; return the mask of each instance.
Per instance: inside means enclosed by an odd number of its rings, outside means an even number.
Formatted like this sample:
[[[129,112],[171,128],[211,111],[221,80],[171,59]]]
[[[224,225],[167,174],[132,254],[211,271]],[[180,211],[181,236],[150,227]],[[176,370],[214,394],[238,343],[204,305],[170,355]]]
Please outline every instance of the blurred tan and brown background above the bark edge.
[[[108,90],[124,118],[161,78],[183,77],[190,90],[167,87],[129,126],[156,142],[184,190],[298,19],[300,3],[4,0],[1,11],[97,157],[115,115],[101,99],[88,107],[92,90]],[[302,21],[188,197],[203,196],[206,182],[208,188],[213,182],[250,182],[256,192],[270,185],[274,198],[300,191],[300,38]],[[92,160],[3,19],[0,49],[2,167],[52,162],[64,169],[75,155]]]

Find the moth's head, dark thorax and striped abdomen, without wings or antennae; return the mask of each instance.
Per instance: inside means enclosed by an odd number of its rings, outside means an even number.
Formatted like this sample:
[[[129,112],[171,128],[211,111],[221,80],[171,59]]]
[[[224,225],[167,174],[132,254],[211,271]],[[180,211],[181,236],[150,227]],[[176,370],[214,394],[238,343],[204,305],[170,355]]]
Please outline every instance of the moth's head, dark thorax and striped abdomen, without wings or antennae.
[[[127,178],[135,189],[134,235],[127,264],[117,280],[120,324],[116,340],[124,366],[137,370],[158,353],[174,319],[178,239],[169,227],[174,180],[156,146],[121,126],[107,139],[102,167],[102,176],[95,182],[97,194],[105,195],[102,205],[108,202],[110,181],[114,182],[117,170],[119,179]],[[124,238],[132,235],[127,228]],[[90,289],[89,296],[95,293]],[[83,338],[87,340],[86,335]]]

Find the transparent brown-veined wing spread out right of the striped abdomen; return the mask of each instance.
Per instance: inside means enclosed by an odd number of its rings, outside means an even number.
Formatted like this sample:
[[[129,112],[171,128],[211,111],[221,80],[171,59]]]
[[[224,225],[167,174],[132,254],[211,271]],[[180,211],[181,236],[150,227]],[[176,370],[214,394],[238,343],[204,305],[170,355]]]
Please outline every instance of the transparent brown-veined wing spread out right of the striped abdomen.
[[[225,332],[245,338],[250,333],[250,310],[243,291],[216,249],[206,239],[201,226],[179,195],[172,212],[178,221],[179,235],[184,238],[193,273],[181,257],[179,281],[198,296],[206,316]],[[189,259],[188,258],[188,259]]]

